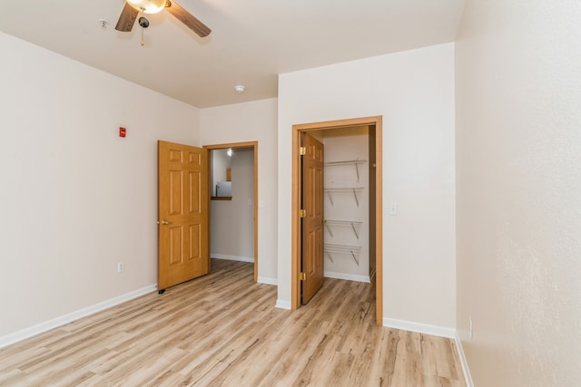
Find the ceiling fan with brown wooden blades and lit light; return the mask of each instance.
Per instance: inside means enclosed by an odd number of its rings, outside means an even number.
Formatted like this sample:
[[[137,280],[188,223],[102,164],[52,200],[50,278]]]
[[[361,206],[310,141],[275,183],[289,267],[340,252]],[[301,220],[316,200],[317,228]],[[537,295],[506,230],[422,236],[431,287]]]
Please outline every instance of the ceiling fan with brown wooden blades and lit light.
[[[208,26],[203,24],[173,0],[125,0],[125,5],[123,6],[123,11],[119,16],[119,21],[117,22],[117,25],[115,25],[115,30],[128,33],[132,30],[135,19],[140,11],[145,14],[157,14],[158,12],[161,12],[163,8],[167,9],[170,14],[175,16],[200,37],[207,36],[212,32]],[[143,28],[147,28],[149,26],[149,21],[142,16],[139,18],[139,24]]]

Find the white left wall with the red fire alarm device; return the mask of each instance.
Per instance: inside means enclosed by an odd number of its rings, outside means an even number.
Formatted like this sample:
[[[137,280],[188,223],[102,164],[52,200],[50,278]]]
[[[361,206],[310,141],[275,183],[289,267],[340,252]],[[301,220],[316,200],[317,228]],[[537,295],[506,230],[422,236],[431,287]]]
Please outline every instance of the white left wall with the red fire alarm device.
[[[156,140],[195,145],[199,113],[7,34],[0,52],[2,338],[156,283]]]

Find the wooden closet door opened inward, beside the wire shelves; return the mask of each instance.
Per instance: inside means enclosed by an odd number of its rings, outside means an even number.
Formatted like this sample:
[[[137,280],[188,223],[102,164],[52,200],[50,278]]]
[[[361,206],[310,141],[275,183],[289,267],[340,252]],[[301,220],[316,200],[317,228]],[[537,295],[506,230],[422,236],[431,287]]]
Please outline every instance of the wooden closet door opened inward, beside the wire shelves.
[[[323,285],[324,276],[324,193],[323,144],[310,134],[301,133],[302,159],[301,207],[305,210],[301,221],[302,254],[301,302],[306,305]]]

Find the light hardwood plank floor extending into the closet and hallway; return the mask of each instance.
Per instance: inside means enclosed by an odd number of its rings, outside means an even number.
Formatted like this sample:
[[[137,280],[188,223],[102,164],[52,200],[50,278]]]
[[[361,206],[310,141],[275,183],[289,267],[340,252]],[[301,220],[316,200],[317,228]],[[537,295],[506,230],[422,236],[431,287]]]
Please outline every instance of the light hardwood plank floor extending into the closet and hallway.
[[[375,324],[374,289],[326,279],[274,307],[248,263],[0,350],[2,386],[465,386],[452,341]]]

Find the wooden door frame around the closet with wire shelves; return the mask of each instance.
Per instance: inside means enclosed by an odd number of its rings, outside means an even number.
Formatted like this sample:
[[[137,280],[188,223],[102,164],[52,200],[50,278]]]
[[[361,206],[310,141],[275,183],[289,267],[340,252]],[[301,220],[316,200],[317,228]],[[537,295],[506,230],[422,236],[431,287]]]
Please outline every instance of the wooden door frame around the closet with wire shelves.
[[[383,196],[382,196],[382,116],[292,125],[292,201],[291,201],[291,309],[300,307],[300,132],[326,131],[353,126],[375,126],[375,310],[376,323],[383,325]],[[369,134],[370,135],[370,134]]]

